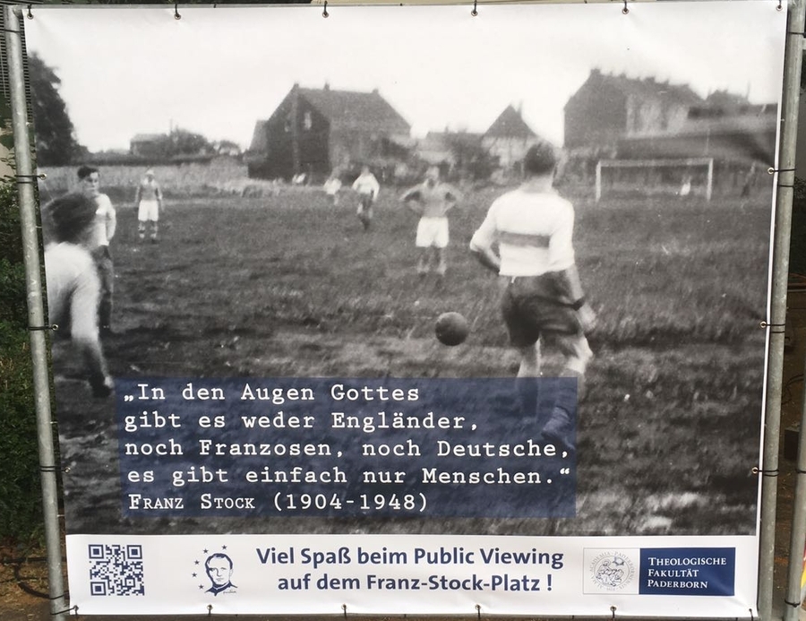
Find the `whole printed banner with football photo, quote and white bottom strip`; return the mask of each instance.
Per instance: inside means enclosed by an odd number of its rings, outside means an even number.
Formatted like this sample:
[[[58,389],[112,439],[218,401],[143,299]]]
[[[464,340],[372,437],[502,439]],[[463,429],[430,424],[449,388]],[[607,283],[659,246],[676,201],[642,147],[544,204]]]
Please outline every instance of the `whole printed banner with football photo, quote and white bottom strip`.
[[[623,8],[33,9],[74,613],[755,610],[785,11]]]

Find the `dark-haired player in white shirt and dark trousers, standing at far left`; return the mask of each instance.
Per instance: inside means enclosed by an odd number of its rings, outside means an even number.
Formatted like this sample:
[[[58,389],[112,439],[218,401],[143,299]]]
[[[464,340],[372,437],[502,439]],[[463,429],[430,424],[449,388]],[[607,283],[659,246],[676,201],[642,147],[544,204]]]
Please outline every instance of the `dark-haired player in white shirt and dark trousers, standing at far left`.
[[[92,199],[95,203],[95,227],[92,236],[85,242],[85,247],[92,254],[101,284],[99,302],[99,324],[101,336],[112,333],[112,291],[115,283],[115,265],[112,263],[112,253],[109,251],[109,242],[115,237],[117,216],[112,201],[107,194],[99,191],[100,177],[98,168],[82,166],[78,169],[81,182],[81,193]]]

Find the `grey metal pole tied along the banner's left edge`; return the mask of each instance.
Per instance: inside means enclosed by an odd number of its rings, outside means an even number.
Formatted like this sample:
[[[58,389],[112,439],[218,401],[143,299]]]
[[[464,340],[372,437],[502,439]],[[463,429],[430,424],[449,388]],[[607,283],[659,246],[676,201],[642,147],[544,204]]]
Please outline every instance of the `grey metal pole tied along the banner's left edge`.
[[[36,178],[31,160],[28,109],[25,102],[25,78],[22,73],[21,8],[4,6],[5,43],[11,87],[14,159],[17,191],[20,197],[22,258],[28,293],[28,322],[32,328],[45,325],[42,270],[39,263],[37,204],[34,194]],[[30,331],[30,355],[33,361],[34,406],[39,436],[39,471],[42,483],[42,507],[47,546],[47,578],[50,614],[56,621],[67,619],[67,596],[62,577],[62,540],[59,532],[58,488],[56,486],[56,453],[50,412],[50,381],[47,367],[45,330]]]

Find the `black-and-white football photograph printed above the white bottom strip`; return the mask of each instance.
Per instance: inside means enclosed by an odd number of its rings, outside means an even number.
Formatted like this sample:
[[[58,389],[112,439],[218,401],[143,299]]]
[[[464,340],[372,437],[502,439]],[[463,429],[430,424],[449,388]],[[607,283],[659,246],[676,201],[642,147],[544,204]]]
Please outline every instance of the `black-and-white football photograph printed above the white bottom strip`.
[[[37,7],[68,534],[756,535],[785,12],[623,6]],[[549,403],[556,377],[574,388]],[[511,381],[487,395],[495,454],[565,455],[570,513],[528,513],[529,485],[511,515],[127,509],[123,386],[305,378]],[[146,427],[183,415],[152,405]],[[282,405],[266,416],[304,425]],[[231,458],[244,432],[204,436]],[[193,451],[184,468],[220,467]],[[477,493],[460,474],[458,505]]]

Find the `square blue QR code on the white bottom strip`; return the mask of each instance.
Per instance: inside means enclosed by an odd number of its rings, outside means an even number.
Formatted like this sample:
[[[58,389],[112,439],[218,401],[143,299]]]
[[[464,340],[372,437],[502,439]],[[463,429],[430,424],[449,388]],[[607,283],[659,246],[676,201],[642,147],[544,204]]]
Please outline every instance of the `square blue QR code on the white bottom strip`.
[[[90,595],[145,595],[142,546],[90,544]]]

